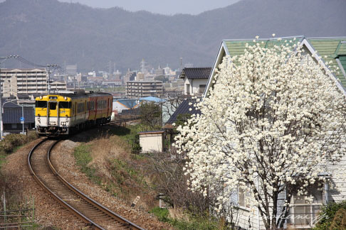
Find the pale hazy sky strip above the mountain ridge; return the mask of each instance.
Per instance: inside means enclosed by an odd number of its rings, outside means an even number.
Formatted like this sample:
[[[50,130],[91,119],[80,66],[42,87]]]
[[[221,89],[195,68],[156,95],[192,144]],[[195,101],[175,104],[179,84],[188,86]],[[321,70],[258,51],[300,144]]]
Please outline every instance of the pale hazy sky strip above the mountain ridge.
[[[150,11],[172,15],[174,13],[198,14],[211,9],[234,4],[239,0],[59,0],[79,2],[93,7],[110,8],[119,6],[129,11]]]

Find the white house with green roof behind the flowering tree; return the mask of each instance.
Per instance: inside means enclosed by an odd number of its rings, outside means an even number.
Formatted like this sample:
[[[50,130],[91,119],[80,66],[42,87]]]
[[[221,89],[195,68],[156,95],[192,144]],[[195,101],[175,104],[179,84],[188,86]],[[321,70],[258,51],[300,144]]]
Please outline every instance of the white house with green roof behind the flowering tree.
[[[270,48],[272,45],[281,45],[289,43],[292,49],[295,48],[295,44],[303,45],[303,59],[302,62],[313,61],[317,63],[317,57],[320,57],[322,66],[325,70],[333,70],[330,74],[332,80],[335,80],[335,84],[340,89],[340,92],[346,97],[346,37],[345,38],[305,38],[304,35],[292,36],[286,38],[265,38],[257,39],[226,39],[222,40],[219,52],[216,56],[213,68],[209,75],[209,80],[204,92],[204,97],[209,96],[209,89],[213,86],[214,76],[216,70],[223,61],[226,55],[231,57],[243,55],[246,49],[246,44],[254,45],[259,43],[261,47]],[[237,60],[234,60],[235,64]],[[331,62],[331,63],[330,63]],[[318,65],[318,64],[316,64]],[[342,158],[340,165],[337,166],[340,170],[346,170],[346,158]],[[323,175],[324,176],[324,175]],[[290,212],[285,222],[285,229],[310,229],[313,226],[314,221],[318,218],[318,212],[322,204],[328,202],[340,202],[346,199],[346,183],[333,178],[332,175],[326,175],[329,180],[332,181],[334,187],[329,187],[326,183],[319,189],[311,190],[313,195],[313,204],[305,202],[305,199],[293,195],[293,199],[290,203]],[[231,195],[232,206],[236,206],[238,210],[236,223],[242,229],[265,229],[263,221],[258,210],[249,209],[250,206],[246,204],[246,200],[249,196],[246,192],[235,191]],[[279,195],[278,205],[284,204],[285,192]]]

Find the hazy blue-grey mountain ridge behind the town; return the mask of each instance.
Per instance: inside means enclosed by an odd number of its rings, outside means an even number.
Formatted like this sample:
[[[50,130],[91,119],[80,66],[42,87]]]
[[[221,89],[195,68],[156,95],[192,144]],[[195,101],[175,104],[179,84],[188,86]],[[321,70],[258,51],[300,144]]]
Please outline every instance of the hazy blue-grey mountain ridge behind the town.
[[[119,7],[93,9],[57,0],[0,3],[0,54],[38,63],[77,64],[78,69],[138,69],[142,58],[179,67],[211,66],[226,38],[346,35],[346,1],[242,0],[198,15],[164,16]]]

